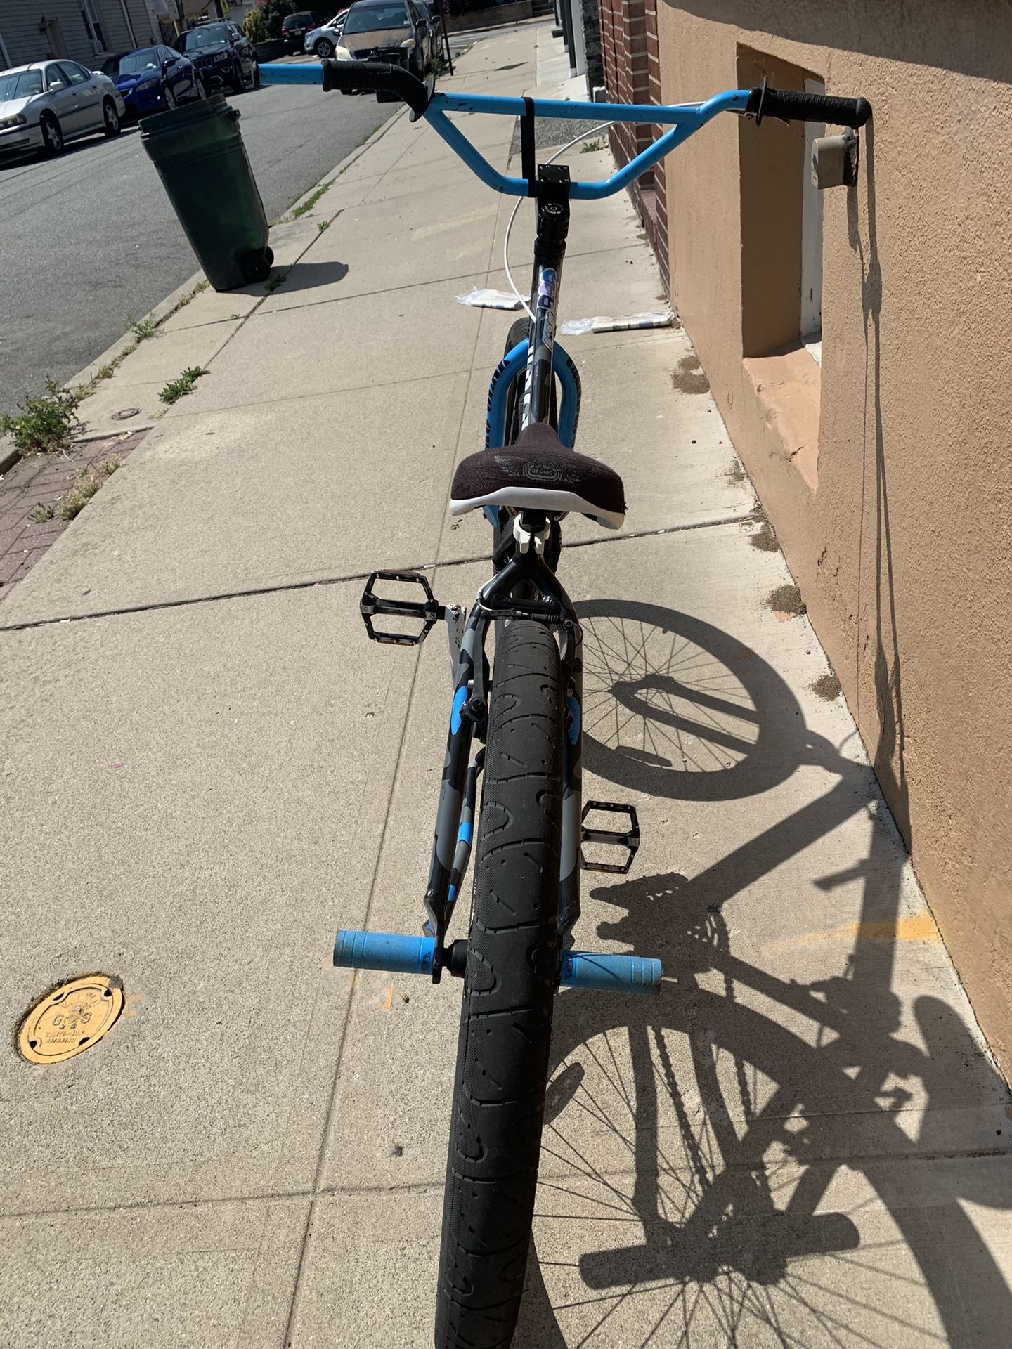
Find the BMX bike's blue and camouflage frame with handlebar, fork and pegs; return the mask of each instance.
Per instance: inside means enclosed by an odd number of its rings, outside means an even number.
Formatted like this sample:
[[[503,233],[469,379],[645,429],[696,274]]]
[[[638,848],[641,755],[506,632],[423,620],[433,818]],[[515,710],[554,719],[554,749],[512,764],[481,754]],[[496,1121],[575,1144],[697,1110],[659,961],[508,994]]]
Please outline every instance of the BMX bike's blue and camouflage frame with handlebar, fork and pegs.
[[[320,84],[322,67],[314,63],[262,67],[270,84]],[[556,103],[542,98],[501,98],[479,94],[434,93],[429,86],[424,111],[412,113],[413,120],[424,116],[433,131],[456,151],[463,162],[488,188],[511,197],[537,200],[537,237],[530,287],[529,337],[513,347],[493,372],[488,386],[488,410],[484,444],[493,449],[506,442],[510,390],[524,376],[524,405],[521,428],[548,422],[552,407],[552,387],[557,378],[561,390],[559,407],[559,438],[573,447],[580,409],[580,382],[569,355],[556,344],[556,312],[565,237],[569,224],[571,201],[592,201],[621,192],[680,146],[721,112],[745,113],[749,89],[729,89],[706,103],[673,107],[626,105],[600,103]],[[449,120],[449,113],[479,113],[519,119],[522,177],[499,173],[467,136]],[[596,182],[569,179],[568,169],[536,162],[534,120],[555,117],[561,120],[592,120],[646,123],[671,127],[650,147],[631,159],[611,177]],[[493,525],[505,525],[507,517],[486,509]],[[463,974],[467,943],[447,946],[447,931],[460,886],[467,871],[474,839],[478,778],[482,773],[484,749],[475,749],[475,739],[487,734],[487,689],[490,683],[484,642],[491,623],[533,619],[546,625],[559,638],[559,649],[565,680],[565,747],[563,769],[563,838],[559,889],[559,981],[573,982],[573,965],[583,959],[568,955],[573,925],[580,913],[580,846],[582,823],[582,719],[583,719],[583,662],[582,631],[572,600],[559,583],[545,560],[545,544],[552,525],[560,518],[533,511],[513,517],[515,549],[490,581],[478,592],[471,612],[447,610],[451,637],[453,697],[451,701],[447,755],[440,785],[436,828],[425,888],[425,938],[387,938],[371,934],[341,932],[335,947],[335,962],[383,969],[402,969],[429,973],[439,982],[444,966],[453,974]],[[366,947],[370,947],[367,951]],[[339,950],[340,948],[340,950]],[[613,975],[602,971],[615,959],[595,956],[595,971],[584,977],[584,986],[613,987]],[[379,962],[379,963],[376,963]],[[656,969],[653,969],[656,966]],[[650,962],[652,973],[641,979],[623,970],[621,979],[629,992],[646,992],[658,986],[660,965]],[[631,970],[631,967],[630,967]],[[603,982],[602,982],[603,979]],[[557,981],[557,982],[559,982]],[[642,983],[637,989],[634,985]]]

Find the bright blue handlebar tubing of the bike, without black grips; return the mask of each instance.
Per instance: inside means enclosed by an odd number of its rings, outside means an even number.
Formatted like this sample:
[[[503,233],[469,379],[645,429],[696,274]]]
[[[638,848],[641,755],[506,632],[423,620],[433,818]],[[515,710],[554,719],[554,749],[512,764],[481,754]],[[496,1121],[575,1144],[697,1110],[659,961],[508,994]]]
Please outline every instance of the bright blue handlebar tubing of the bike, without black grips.
[[[322,66],[316,61],[301,65],[260,66],[263,84],[322,84]],[[745,112],[749,103],[749,89],[727,89],[714,94],[706,103],[677,104],[658,108],[653,104],[626,103],[561,103],[553,98],[497,98],[491,94],[434,93],[422,113],[432,130],[440,135],[451,150],[464,161],[483,183],[507,197],[529,196],[526,178],[509,178],[494,169],[488,161],[471,144],[467,136],[449,120],[448,112],[491,113],[501,117],[522,117],[530,105],[536,117],[555,117],[569,121],[634,121],[648,125],[669,125],[671,131],[660,136],[652,146],[642,150],[634,159],[614,173],[610,178],[596,182],[572,182],[569,196],[579,201],[594,201],[610,197],[627,188],[640,174],[646,173],[667,154],[704,127],[719,112]]]

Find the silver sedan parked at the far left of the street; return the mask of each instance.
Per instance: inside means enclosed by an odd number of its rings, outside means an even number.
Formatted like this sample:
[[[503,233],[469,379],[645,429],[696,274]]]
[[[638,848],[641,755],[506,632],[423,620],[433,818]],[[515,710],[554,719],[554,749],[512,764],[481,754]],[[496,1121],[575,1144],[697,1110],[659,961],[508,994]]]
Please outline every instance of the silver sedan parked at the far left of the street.
[[[63,152],[67,140],[120,134],[123,98],[108,76],[76,61],[32,61],[0,71],[0,161]]]

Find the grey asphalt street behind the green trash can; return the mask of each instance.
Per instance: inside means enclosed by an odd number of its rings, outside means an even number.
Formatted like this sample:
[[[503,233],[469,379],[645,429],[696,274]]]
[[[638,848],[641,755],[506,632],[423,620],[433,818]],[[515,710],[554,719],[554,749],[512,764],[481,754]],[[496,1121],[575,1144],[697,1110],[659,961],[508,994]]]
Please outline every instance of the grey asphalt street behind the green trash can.
[[[397,111],[298,86],[231,101],[269,220]],[[136,127],[0,169],[0,411],[76,375],[197,271]]]

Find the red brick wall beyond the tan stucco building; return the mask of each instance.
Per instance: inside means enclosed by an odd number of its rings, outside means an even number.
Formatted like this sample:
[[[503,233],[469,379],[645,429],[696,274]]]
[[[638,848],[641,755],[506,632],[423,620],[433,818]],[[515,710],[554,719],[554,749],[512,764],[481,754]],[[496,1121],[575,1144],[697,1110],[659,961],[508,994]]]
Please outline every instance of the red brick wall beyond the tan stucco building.
[[[657,0],[599,0],[605,88],[611,103],[660,103]],[[660,134],[652,125],[611,128],[611,148],[621,165],[638,155]],[[633,202],[669,287],[668,208],[664,163],[648,170],[630,189]]]

